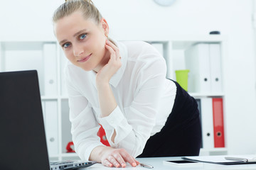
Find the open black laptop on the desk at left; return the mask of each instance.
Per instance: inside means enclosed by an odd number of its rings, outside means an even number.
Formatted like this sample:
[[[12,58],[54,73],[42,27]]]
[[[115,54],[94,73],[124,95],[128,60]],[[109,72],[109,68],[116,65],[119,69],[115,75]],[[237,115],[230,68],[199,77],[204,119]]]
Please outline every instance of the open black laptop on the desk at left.
[[[49,162],[36,70],[0,72],[0,169],[78,169],[96,162]]]

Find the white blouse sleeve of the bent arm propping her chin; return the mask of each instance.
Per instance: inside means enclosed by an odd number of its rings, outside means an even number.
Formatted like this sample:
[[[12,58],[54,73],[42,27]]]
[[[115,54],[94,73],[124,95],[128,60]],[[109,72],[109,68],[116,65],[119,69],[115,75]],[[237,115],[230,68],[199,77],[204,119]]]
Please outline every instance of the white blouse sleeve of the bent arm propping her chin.
[[[100,118],[107,139],[111,139],[114,130],[116,131],[114,142],[109,140],[110,146],[124,148],[133,157],[142,154],[156,123],[166,79],[164,58],[156,57],[156,60],[146,62],[135,79],[139,85],[131,105],[124,108],[124,113],[117,106],[109,116]]]

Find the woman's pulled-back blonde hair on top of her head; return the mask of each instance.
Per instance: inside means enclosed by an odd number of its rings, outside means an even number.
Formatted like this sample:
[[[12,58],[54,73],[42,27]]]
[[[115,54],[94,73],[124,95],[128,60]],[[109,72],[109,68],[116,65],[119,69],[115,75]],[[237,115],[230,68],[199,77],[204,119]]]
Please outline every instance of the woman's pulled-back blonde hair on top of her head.
[[[75,11],[81,11],[85,19],[92,19],[100,24],[102,15],[91,0],[65,0],[53,13],[53,23],[65,16],[70,16]]]

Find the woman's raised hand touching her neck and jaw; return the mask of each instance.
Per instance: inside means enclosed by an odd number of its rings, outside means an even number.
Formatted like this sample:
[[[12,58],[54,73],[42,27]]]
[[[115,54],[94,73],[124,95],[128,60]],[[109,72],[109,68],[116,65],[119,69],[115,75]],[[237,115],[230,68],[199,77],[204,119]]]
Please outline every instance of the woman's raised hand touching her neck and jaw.
[[[104,67],[102,67],[102,69],[100,69],[100,72],[97,72],[96,81],[99,84],[102,83],[102,81],[109,83],[111,77],[122,66],[117,46],[110,42],[110,40],[106,40],[105,47],[110,52],[110,60]]]

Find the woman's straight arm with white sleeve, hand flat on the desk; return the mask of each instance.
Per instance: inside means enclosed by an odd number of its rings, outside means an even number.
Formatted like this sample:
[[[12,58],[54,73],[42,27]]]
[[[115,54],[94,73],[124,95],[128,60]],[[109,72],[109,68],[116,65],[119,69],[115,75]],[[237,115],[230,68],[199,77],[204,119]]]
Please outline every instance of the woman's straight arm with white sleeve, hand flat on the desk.
[[[80,94],[67,80],[67,88],[70,105],[70,121],[72,124],[71,133],[75,144],[75,152],[78,153],[81,159],[93,160],[101,162],[105,166],[125,167],[126,163],[137,166],[134,157],[128,154],[124,149],[114,149],[106,147],[100,142],[97,131],[100,125],[95,120],[91,108],[88,106],[87,99]],[[110,159],[112,164],[107,160]],[[114,162],[117,159],[118,162]]]

